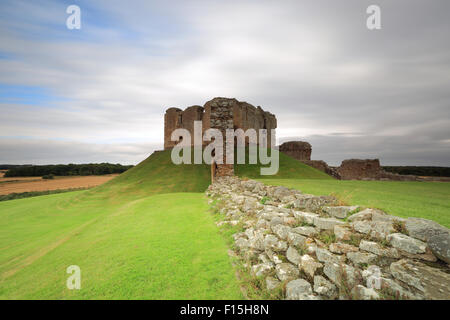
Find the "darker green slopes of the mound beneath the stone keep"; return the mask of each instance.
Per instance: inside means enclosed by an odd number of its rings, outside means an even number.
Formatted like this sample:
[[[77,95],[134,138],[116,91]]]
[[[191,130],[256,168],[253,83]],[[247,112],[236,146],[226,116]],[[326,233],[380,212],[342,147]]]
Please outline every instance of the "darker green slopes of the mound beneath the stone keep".
[[[171,192],[204,192],[211,183],[210,166],[206,164],[175,165],[172,163],[170,154],[170,150],[155,152],[134,168],[92,189],[88,194],[132,199]],[[280,168],[276,175],[261,176],[260,167],[260,164],[235,165],[235,172],[238,176],[247,178],[333,179],[283,153],[280,153]]]

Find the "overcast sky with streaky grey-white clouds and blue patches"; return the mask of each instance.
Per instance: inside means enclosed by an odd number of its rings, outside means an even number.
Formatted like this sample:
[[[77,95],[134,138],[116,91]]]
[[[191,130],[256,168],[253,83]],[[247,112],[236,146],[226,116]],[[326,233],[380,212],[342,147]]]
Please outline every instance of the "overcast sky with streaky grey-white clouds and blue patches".
[[[450,166],[449,35],[448,0],[2,0],[0,163],[136,164],[166,108],[224,96],[332,165]]]

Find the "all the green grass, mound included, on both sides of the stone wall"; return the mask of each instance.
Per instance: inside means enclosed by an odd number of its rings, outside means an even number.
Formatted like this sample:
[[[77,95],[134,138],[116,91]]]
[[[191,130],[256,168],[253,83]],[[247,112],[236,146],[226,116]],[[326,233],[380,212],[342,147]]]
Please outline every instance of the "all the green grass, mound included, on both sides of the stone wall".
[[[262,181],[449,226],[450,184],[336,181],[284,155],[280,165]],[[258,169],[236,172],[261,178]],[[0,298],[242,298],[209,182],[209,166],[176,166],[164,151],[90,190],[0,202]],[[66,288],[70,265],[81,290]]]

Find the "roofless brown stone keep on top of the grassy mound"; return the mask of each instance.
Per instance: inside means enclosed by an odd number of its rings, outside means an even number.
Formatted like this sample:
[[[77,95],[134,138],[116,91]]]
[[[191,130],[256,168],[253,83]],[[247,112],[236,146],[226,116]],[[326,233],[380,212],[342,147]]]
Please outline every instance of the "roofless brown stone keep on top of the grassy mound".
[[[201,120],[203,132],[209,128],[214,128],[211,124],[211,106],[216,103],[220,106],[230,108],[232,110],[233,125],[231,129],[255,129],[258,133],[259,129],[276,129],[276,117],[261,107],[254,107],[247,102],[240,102],[236,99],[214,98],[205,103],[203,107],[192,106],[184,111],[178,108],[169,108],[164,115],[164,149],[173,148],[178,142],[170,141],[173,130],[184,128],[189,130],[191,136],[194,134],[194,121]],[[247,140],[248,142],[248,140]],[[268,134],[268,145],[270,145],[270,134]],[[206,144],[206,143],[203,143]]]

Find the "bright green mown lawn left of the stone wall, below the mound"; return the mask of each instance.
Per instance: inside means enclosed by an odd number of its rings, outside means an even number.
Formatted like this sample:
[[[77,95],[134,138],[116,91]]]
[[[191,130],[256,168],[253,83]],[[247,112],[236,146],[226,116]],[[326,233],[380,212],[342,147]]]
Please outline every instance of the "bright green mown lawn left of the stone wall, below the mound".
[[[119,206],[86,193],[0,203],[0,298],[242,298],[203,193]],[[81,290],[66,287],[70,265]]]

